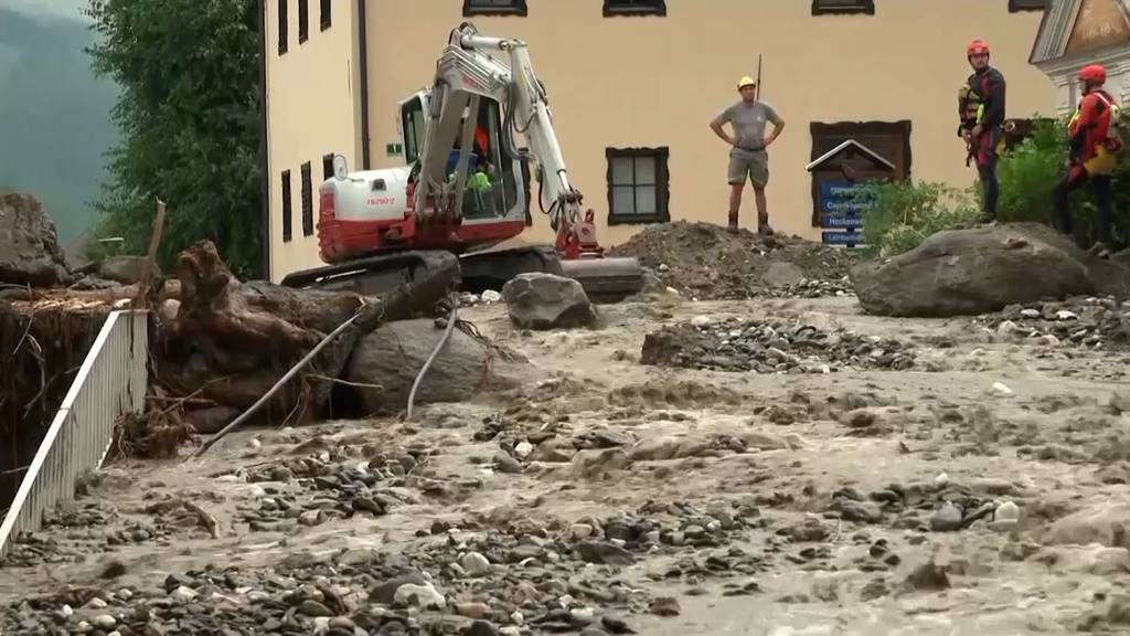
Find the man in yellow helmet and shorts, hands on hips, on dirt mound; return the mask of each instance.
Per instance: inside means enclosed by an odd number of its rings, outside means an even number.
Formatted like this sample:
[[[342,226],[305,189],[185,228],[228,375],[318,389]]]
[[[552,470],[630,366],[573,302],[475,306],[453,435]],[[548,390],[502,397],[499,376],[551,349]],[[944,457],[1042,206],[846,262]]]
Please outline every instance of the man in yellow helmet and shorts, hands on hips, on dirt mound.
[[[754,186],[754,199],[757,204],[757,231],[772,235],[770,215],[766,209],[765,186],[770,180],[770,160],[765,151],[781,136],[784,120],[777,115],[773,106],[757,98],[757,83],[751,77],[742,77],[738,81],[741,100],[730,105],[710,122],[711,129],[723,141],[730,145],[730,164],[727,167],[727,181],[730,183],[729,231],[738,231],[738,210],[741,207],[741,191],[746,188],[746,179]],[[765,122],[773,123],[773,132],[765,134]],[[722,126],[729,123],[733,136],[727,135]]]

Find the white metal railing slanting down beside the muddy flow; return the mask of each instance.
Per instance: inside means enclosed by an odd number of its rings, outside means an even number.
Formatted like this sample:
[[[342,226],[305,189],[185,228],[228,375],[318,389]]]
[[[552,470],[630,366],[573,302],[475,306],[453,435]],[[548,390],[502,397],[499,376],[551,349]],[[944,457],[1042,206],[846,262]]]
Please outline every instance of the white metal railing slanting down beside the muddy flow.
[[[0,524],[0,557],[43,513],[75,496],[82,473],[102,466],[119,416],[145,407],[149,381],[149,315],[112,311],[24,474]]]

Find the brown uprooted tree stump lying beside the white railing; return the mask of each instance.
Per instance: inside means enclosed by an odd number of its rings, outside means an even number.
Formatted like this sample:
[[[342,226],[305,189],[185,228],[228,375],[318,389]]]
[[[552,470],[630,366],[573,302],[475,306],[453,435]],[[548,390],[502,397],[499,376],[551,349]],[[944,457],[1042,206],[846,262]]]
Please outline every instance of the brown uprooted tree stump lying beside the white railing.
[[[172,395],[238,411],[254,404],[367,302],[351,292],[241,283],[209,241],[181,252],[176,277],[180,307],[157,332],[156,378]],[[347,328],[267,403],[266,418],[319,415],[357,340],[375,326],[355,323]]]

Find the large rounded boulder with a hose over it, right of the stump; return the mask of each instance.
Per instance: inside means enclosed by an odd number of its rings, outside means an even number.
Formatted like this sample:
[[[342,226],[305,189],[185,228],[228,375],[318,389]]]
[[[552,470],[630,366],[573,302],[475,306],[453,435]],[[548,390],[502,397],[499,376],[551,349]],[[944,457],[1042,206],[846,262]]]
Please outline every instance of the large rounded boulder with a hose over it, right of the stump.
[[[354,350],[345,378],[383,387],[356,389],[364,409],[370,413],[403,409],[416,375],[442,336],[443,329],[436,328],[431,319],[395,320],[364,336]],[[505,364],[478,341],[453,329],[420,381],[416,404],[466,401],[486,385],[511,388],[515,385],[503,373]]]

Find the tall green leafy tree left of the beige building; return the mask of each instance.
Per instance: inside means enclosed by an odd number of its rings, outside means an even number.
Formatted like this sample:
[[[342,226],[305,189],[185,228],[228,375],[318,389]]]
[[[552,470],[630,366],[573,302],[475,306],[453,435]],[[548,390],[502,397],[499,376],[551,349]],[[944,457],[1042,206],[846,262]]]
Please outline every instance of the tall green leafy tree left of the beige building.
[[[99,237],[144,253],[160,198],[166,269],[210,239],[237,276],[262,274],[257,10],[246,0],[90,0],[102,35],[94,69],[123,89]]]

